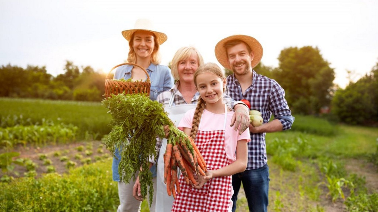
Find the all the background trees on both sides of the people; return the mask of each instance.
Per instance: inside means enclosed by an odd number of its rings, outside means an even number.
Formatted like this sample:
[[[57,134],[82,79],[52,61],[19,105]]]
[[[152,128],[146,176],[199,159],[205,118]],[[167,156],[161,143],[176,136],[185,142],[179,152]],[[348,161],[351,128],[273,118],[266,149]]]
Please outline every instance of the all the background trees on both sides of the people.
[[[319,115],[329,108],[335,121],[349,124],[378,123],[378,62],[372,70],[345,89],[333,84],[335,71],[317,47],[289,47],[279,56],[278,67],[259,63],[254,70],[276,80],[284,89],[293,114]],[[45,66],[10,64],[0,67],[0,97],[101,101],[105,74],[90,66],[79,68],[66,61],[64,74],[54,77]],[[225,70],[226,75],[232,71]]]

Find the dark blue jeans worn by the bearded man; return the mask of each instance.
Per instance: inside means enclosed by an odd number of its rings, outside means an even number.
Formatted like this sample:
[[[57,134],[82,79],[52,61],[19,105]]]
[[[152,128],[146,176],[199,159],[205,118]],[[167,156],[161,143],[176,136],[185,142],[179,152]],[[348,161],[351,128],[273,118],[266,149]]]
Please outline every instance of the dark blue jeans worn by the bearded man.
[[[240,184],[243,183],[245,197],[247,198],[249,211],[266,212],[268,207],[268,190],[269,190],[269,167],[268,164],[258,168],[245,170],[238,174],[232,175],[232,212],[236,210],[237,195]]]

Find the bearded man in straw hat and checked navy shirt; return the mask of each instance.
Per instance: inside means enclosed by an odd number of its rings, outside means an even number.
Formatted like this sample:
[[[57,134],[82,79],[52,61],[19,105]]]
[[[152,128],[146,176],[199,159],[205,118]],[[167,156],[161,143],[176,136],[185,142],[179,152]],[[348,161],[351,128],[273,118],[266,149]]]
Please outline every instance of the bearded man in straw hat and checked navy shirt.
[[[266,212],[268,206],[269,167],[266,158],[265,134],[291,128],[294,117],[285,100],[285,91],[275,81],[257,74],[253,68],[260,62],[262,46],[247,35],[232,35],[219,41],[215,56],[219,63],[234,72],[227,77],[229,95],[234,100],[246,99],[251,109],[261,112],[263,124],[249,124],[248,164],[245,171],[232,176],[232,212],[243,183],[249,211]],[[269,121],[271,115],[274,119]]]

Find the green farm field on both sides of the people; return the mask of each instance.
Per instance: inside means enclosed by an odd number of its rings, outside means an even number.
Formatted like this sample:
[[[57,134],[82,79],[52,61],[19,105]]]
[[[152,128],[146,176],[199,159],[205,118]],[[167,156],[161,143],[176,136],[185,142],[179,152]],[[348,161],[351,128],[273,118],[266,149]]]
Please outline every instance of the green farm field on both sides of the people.
[[[44,206],[48,201],[58,202],[57,205],[59,202],[67,203],[67,211],[115,211],[118,205],[117,187],[111,178],[110,154],[101,142],[101,138],[107,133],[104,129],[110,130],[107,126],[110,117],[100,103],[58,103],[0,98],[0,106],[0,154],[18,152],[20,155],[14,157],[14,160],[28,158],[36,165],[33,170],[30,168],[32,163],[29,163],[29,168],[25,164],[11,163],[13,169],[0,172],[2,181],[6,181],[5,176],[13,178],[2,183],[5,192],[0,194],[0,211],[20,211],[20,207],[26,208],[26,205],[29,206],[25,211],[55,211],[55,206]],[[40,126],[43,118],[52,121],[54,126],[63,120],[64,124],[77,126],[76,135],[70,139],[59,137],[55,142],[49,141],[48,135],[45,135],[46,141],[39,143],[30,143],[28,140],[16,141],[18,137],[12,131],[16,129],[15,125],[21,123],[25,126]],[[30,121],[27,121],[28,119]],[[51,126],[52,124],[46,124],[45,129],[50,129]],[[71,129],[66,125],[59,127]],[[102,131],[96,132],[96,129]],[[5,132],[14,135],[5,139]],[[26,132],[29,131],[24,133]],[[333,125],[321,118],[304,116],[296,116],[293,129],[290,131],[267,134],[271,180],[268,210],[377,211],[377,139],[377,128]],[[67,160],[60,161],[64,156]],[[48,160],[51,163],[46,162]],[[47,174],[50,172],[48,166],[54,167],[52,174]],[[60,177],[56,177],[54,173]],[[81,181],[82,178],[87,179],[87,184]],[[93,181],[90,180],[92,178]],[[96,183],[93,183],[94,181]],[[60,186],[63,182],[79,184],[75,188]],[[43,183],[46,184],[45,187],[32,186]],[[67,195],[46,195],[57,192],[49,190],[52,189],[48,186],[49,183],[51,186],[60,187],[61,192]],[[12,192],[14,190],[16,192]],[[18,194],[17,191],[22,191],[22,194]],[[240,191],[237,211],[245,212],[248,211],[248,205],[243,189]],[[28,192],[41,198],[23,201]],[[78,196],[93,196],[94,199],[101,196],[104,200],[93,201]],[[75,197],[78,200],[74,200]],[[17,199],[19,200],[16,201]],[[38,206],[40,209],[29,208],[30,205]],[[87,210],[83,210],[84,207]],[[142,211],[149,211],[146,201],[143,202]]]

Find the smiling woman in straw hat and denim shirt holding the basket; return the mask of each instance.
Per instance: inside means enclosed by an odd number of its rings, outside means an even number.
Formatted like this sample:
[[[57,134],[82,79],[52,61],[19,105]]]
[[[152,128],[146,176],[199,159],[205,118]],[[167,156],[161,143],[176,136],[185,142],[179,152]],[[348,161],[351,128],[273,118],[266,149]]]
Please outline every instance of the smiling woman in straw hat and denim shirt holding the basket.
[[[150,76],[151,88],[150,99],[156,100],[158,94],[172,88],[174,79],[170,74],[168,66],[159,65],[159,48],[167,40],[167,35],[158,32],[152,27],[152,23],[147,19],[138,19],[134,29],[122,31],[123,37],[129,41],[129,55],[127,62],[135,63],[146,69]],[[119,66],[114,74],[115,79],[132,78],[133,81],[145,81],[146,73],[132,65]],[[118,150],[113,158],[112,171],[113,180],[118,181],[118,196],[120,205],[117,212],[137,212],[140,211],[141,202],[133,197],[133,185],[135,182],[123,183],[119,179],[118,165],[121,154]],[[152,165],[155,160],[151,160]],[[153,173],[154,196],[156,195],[156,166],[150,169]],[[137,178],[137,181],[139,178]],[[155,211],[155,197],[150,211]]]

